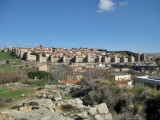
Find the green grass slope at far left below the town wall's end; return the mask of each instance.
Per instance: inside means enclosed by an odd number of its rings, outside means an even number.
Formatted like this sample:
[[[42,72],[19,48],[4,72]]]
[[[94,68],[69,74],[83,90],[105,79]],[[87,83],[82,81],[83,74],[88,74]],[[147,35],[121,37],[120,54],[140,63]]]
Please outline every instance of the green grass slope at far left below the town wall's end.
[[[0,61],[4,60],[13,60],[14,56],[12,55],[11,52],[1,52],[0,53]]]

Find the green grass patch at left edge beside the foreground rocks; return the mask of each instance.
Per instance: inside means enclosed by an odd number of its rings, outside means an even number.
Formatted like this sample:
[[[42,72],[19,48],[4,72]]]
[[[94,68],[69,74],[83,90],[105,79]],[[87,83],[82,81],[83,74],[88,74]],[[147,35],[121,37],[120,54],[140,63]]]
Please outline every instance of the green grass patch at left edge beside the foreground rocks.
[[[21,94],[32,94],[34,92],[31,88],[23,88],[20,90],[13,90],[10,88],[0,87],[0,98],[12,98],[18,99],[20,98]]]

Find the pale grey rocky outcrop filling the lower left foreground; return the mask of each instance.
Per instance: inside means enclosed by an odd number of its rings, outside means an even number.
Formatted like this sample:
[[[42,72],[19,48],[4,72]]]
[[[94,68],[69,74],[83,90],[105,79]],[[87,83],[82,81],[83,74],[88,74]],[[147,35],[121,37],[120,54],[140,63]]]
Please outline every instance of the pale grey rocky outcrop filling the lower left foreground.
[[[46,85],[37,92],[37,98],[5,113],[6,120],[112,120],[105,103],[85,106],[79,98],[66,99],[72,87],[69,84]]]

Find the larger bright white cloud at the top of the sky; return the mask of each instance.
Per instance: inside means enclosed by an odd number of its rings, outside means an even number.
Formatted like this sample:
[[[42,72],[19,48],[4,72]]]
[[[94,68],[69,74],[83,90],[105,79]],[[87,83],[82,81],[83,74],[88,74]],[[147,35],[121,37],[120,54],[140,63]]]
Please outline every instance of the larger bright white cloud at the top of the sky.
[[[116,3],[112,0],[100,0],[98,5],[99,10],[97,12],[102,13],[105,11],[113,11],[115,9],[115,5]]]

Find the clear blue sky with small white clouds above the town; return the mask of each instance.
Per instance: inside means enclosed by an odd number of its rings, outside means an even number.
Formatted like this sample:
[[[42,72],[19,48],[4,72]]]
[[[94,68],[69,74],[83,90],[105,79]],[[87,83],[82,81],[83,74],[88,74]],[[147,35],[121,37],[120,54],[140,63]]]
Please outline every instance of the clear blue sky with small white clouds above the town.
[[[0,0],[0,48],[160,53],[160,0]]]

